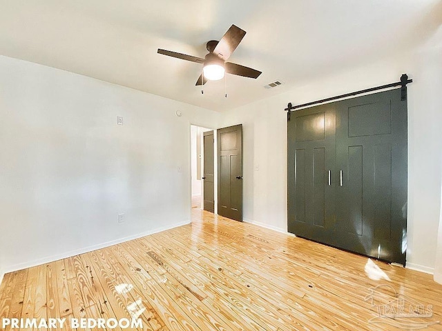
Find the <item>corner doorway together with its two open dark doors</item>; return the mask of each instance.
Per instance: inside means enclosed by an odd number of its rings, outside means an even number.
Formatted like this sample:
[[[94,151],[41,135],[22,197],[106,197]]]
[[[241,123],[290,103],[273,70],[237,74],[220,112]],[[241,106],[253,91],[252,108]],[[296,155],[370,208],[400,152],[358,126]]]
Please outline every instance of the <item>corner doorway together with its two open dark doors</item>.
[[[242,124],[191,125],[191,208],[242,221]]]

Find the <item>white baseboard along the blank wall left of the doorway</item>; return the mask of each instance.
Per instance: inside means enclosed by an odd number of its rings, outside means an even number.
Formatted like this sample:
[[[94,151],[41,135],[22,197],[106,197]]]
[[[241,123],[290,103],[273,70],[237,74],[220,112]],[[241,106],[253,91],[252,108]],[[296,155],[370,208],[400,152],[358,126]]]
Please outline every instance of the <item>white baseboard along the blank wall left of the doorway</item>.
[[[138,233],[135,234],[133,236],[129,236],[129,237],[124,237],[124,238],[120,238],[120,239],[115,239],[112,241],[107,241],[106,243],[99,243],[97,245],[90,245],[88,247],[85,248],[79,248],[78,250],[70,250],[68,252],[64,252],[61,254],[55,254],[55,255],[51,255],[49,257],[44,257],[42,259],[37,259],[37,260],[33,260],[33,261],[26,261],[23,263],[17,263],[15,265],[10,265],[8,267],[5,268],[5,270],[3,270],[3,273],[0,273],[0,283],[1,283],[1,279],[3,279],[3,275],[7,274],[8,272],[15,272],[17,270],[22,270],[22,269],[26,269],[26,268],[31,268],[31,267],[35,267],[36,265],[41,265],[44,263],[49,263],[49,262],[53,262],[53,261],[57,261],[57,260],[61,260],[61,259],[66,259],[68,257],[74,257],[75,255],[78,254],[84,254],[87,252],[92,252],[93,250],[99,250],[101,248],[106,248],[108,246],[111,245],[116,245],[117,243],[124,243],[126,241],[130,241],[133,239],[138,239],[141,237],[145,237],[148,236],[149,234],[154,234],[157,232],[162,232],[165,230],[170,230],[173,228],[177,228],[178,226],[182,226],[182,225],[186,225],[191,223],[191,221],[183,221],[183,222],[177,222],[177,223],[173,223],[172,225],[168,225],[168,226],[164,226],[161,228],[156,228],[153,230],[149,230],[149,231],[145,231],[142,233]]]

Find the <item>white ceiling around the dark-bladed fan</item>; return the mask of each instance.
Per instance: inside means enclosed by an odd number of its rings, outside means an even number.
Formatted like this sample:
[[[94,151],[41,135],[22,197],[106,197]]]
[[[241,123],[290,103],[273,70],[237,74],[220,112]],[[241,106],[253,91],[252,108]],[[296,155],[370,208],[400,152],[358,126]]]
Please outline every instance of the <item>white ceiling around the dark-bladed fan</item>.
[[[0,54],[212,110],[285,92],[423,42],[441,0],[0,0]],[[195,86],[206,42],[247,31],[229,61],[262,71]],[[263,86],[280,80],[284,85]]]

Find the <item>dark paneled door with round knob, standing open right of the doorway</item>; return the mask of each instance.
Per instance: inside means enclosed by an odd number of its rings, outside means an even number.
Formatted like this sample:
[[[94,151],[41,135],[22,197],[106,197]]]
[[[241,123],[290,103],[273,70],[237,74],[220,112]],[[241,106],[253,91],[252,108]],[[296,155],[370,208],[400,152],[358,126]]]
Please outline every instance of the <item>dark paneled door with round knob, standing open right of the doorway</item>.
[[[242,221],[242,124],[217,130],[218,214]]]

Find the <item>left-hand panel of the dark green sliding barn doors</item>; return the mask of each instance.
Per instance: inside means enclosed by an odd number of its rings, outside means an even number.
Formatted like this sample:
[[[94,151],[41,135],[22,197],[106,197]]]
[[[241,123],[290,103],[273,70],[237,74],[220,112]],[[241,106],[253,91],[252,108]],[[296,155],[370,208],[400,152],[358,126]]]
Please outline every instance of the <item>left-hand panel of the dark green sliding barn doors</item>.
[[[334,104],[298,110],[288,122],[289,232],[334,238]]]

